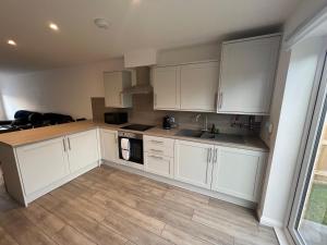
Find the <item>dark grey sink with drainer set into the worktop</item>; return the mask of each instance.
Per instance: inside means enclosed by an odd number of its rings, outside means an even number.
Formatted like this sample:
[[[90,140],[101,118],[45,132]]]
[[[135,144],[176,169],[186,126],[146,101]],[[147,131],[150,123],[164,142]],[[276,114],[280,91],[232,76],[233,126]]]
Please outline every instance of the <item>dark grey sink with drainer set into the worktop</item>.
[[[210,140],[217,140],[222,143],[244,144],[244,137],[242,135],[211,134],[209,132],[193,131],[193,130],[181,130],[175,135],[184,136],[184,137],[210,139]]]

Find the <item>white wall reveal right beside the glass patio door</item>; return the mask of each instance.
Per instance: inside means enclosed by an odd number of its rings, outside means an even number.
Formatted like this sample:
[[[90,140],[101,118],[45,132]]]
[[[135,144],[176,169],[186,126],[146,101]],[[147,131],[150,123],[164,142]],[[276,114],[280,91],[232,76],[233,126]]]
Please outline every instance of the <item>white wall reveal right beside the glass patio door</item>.
[[[276,139],[270,147],[268,177],[259,210],[261,221],[266,224],[282,226],[287,217],[293,174],[323,45],[323,39],[311,39],[292,49],[283,96],[275,97],[276,105],[281,98],[282,103],[278,125],[275,125]],[[277,119],[278,113],[275,117]]]

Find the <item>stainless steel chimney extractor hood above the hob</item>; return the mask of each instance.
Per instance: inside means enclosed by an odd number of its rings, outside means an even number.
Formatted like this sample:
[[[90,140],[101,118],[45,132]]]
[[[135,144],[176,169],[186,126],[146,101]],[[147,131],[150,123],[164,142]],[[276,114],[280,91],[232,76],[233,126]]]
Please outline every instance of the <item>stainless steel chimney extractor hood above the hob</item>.
[[[136,85],[125,88],[122,93],[129,95],[150,94],[154,88],[149,79],[149,66],[136,68]]]

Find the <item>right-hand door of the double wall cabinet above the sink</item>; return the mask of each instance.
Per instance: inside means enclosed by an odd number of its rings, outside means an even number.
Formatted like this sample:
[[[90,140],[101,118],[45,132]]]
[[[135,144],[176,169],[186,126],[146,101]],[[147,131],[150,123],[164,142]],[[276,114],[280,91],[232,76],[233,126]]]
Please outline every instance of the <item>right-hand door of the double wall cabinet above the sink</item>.
[[[218,62],[182,65],[181,109],[216,112],[218,81]]]

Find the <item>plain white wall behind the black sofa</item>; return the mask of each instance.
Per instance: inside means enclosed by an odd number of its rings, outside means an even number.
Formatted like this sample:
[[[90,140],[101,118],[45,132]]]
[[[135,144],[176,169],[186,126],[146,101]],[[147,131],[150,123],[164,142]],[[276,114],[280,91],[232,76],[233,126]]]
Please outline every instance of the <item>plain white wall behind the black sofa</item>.
[[[5,115],[16,110],[59,112],[73,118],[92,118],[90,97],[104,97],[104,71],[123,69],[123,60],[76,68],[58,69],[0,79],[0,94]]]

